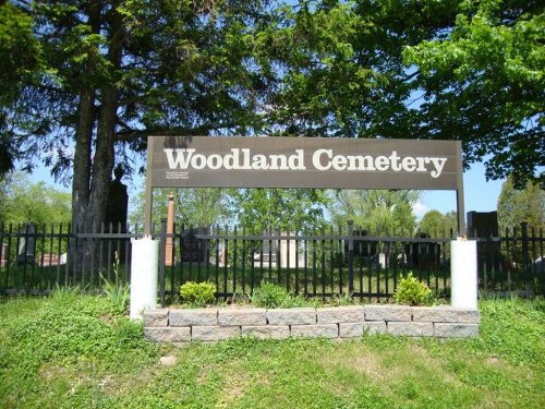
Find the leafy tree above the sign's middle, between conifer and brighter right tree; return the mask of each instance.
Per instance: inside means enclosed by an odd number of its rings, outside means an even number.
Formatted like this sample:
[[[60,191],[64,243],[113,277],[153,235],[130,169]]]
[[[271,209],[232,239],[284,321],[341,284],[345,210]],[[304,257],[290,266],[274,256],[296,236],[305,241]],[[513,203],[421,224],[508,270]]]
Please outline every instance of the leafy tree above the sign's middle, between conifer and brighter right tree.
[[[408,45],[434,38],[456,1],[299,2],[264,44],[281,84],[267,111],[272,132],[304,136],[419,137],[410,108]],[[267,43],[265,43],[267,41]]]

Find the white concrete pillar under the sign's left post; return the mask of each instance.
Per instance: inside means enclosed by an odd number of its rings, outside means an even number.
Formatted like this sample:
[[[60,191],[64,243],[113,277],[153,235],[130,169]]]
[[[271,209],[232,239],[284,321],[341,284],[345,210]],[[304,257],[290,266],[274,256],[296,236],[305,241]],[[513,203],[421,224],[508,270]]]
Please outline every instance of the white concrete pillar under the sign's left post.
[[[150,238],[132,240],[131,320],[141,320],[145,310],[157,308],[159,241]]]

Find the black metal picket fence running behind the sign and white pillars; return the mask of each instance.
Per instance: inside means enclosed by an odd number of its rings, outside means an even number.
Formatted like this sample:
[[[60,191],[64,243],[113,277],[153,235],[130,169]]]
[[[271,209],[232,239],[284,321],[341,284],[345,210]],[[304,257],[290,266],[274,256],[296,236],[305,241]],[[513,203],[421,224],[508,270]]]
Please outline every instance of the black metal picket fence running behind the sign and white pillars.
[[[305,297],[376,301],[391,298],[412,272],[437,296],[448,298],[450,291],[450,237],[375,237],[352,225],[298,232],[181,227],[167,234],[165,224],[152,236],[160,241],[164,304],[175,302],[190,280],[215,282],[225,299],[270,281]],[[129,281],[131,240],[141,237],[138,227],[80,232],[70,226],[0,226],[0,294],[48,293],[58,286],[99,291],[114,275]],[[476,240],[482,292],[544,293],[542,230],[522,225]]]

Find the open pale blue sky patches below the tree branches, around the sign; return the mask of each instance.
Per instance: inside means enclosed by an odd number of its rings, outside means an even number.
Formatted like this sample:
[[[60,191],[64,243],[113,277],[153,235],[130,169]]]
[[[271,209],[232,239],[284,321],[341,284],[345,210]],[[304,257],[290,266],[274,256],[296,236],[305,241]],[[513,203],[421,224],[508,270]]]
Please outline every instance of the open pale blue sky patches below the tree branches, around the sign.
[[[463,173],[464,188],[464,208],[465,213],[471,210],[476,212],[494,212],[497,207],[498,196],[501,192],[502,180],[486,181],[484,177],[484,165],[473,164],[470,170]],[[70,188],[55,183],[53,178],[49,175],[49,170],[38,167],[31,176],[33,182],[44,181],[48,185],[52,185],[59,190],[69,190]],[[123,183],[128,185],[129,191],[129,212],[135,205],[135,196],[144,185],[143,177],[134,177],[133,180],[124,178]],[[131,200],[133,199],[133,200]],[[457,209],[456,192],[455,191],[422,191],[420,202],[416,204],[414,212],[416,218],[420,219],[427,210],[439,210],[447,213]]]

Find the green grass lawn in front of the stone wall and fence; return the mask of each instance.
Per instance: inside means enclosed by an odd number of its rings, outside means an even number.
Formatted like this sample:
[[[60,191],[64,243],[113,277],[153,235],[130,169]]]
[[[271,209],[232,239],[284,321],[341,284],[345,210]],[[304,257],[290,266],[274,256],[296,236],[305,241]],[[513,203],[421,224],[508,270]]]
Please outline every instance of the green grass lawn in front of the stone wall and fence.
[[[0,408],[544,408],[545,301],[480,308],[474,339],[177,349],[143,340],[105,297],[3,299]]]

